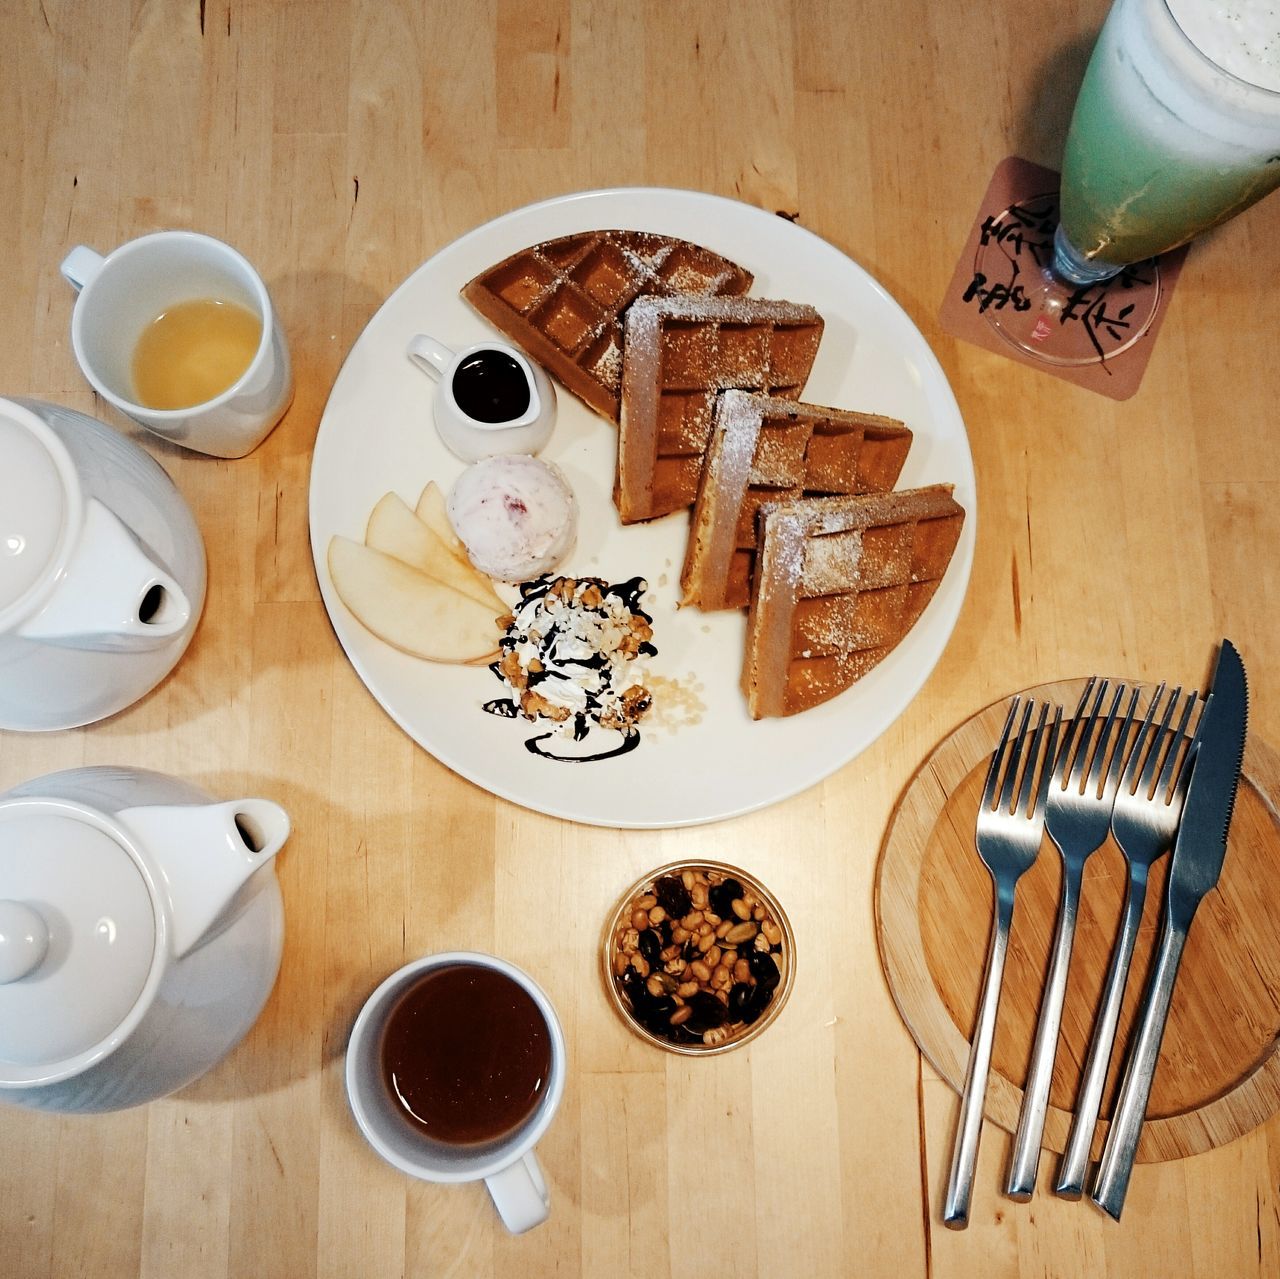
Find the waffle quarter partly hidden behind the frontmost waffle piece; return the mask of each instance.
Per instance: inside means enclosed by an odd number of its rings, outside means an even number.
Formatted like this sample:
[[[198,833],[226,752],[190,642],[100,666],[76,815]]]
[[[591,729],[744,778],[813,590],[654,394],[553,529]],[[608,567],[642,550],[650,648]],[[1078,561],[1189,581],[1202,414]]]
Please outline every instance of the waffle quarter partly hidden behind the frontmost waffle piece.
[[[726,390],[689,526],[685,603],[746,608],[762,502],[886,493],[910,447],[911,433],[893,417]]]

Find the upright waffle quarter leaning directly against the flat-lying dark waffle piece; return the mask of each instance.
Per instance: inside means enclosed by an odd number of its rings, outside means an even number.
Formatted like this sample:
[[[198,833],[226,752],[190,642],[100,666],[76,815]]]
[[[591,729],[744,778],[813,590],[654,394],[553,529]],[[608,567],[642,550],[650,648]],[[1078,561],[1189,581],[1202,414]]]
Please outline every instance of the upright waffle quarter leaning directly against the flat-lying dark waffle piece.
[[[822,316],[797,302],[637,298],[622,346],[622,522],[692,506],[717,394],[799,399],[820,339]]]

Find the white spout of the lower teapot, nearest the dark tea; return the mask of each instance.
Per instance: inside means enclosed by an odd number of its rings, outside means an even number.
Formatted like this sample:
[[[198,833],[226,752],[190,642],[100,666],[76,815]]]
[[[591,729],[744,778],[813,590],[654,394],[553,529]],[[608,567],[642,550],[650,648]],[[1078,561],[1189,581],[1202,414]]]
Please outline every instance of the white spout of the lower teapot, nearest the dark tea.
[[[289,835],[288,813],[269,799],[127,808],[118,821],[156,868],[179,959],[239,914]]]

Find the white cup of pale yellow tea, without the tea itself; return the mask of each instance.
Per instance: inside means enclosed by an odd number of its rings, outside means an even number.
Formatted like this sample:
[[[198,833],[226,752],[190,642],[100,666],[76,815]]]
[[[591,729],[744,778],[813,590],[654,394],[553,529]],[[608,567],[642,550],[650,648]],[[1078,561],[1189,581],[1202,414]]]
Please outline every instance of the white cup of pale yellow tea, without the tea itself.
[[[284,333],[262,278],[230,245],[192,230],[161,230],[102,257],[79,245],[61,264],[79,291],[72,347],[81,371],[108,403],[165,439],[243,457],[270,434],[293,399]],[[179,302],[237,302],[259,318],[262,337],[250,366],[220,396],[189,408],[137,403],[132,361],[142,330]]]

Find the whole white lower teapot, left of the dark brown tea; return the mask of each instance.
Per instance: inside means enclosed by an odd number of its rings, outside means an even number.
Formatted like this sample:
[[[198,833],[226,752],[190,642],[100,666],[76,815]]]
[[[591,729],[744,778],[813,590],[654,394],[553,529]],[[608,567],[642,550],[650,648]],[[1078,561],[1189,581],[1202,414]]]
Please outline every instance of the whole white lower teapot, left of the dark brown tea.
[[[288,833],[278,804],[143,769],[0,795],[0,1101],[119,1110],[229,1052],[279,970]]]

